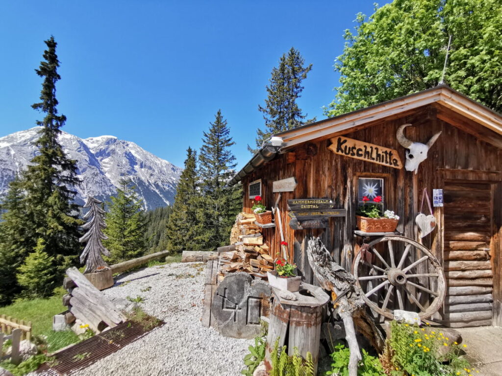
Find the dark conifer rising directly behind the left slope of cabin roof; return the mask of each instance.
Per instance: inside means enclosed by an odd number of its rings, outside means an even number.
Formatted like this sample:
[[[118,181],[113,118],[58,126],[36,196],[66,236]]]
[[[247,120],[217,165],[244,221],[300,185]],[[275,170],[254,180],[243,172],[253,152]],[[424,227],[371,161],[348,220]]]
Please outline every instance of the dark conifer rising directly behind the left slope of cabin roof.
[[[258,110],[264,113],[266,129],[265,131],[260,128],[257,130],[257,149],[248,145],[247,149],[250,152],[256,153],[263,142],[275,133],[315,121],[315,118],[304,121],[307,115],[302,114],[302,110],[296,103],[304,89],[301,86],[302,80],[307,78],[307,73],[312,70],[312,64],[308,66],[304,64],[305,60],[300,52],[291,47],[291,50],[279,59],[279,66],[272,69],[265,107],[258,106]]]

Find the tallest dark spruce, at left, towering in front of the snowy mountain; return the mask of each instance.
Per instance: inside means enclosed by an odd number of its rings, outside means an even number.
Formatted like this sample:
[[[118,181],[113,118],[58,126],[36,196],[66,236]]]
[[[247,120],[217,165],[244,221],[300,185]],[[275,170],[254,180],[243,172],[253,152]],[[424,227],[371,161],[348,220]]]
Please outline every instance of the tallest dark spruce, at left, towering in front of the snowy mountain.
[[[58,115],[56,82],[61,79],[54,37],[45,41],[47,50],[37,74],[44,78],[40,95],[41,102],[32,107],[45,113],[37,125],[42,128],[35,142],[38,154],[31,160],[22,175],[22,185],[26,192],[25,207],[27,223],[24,224],[27,240],[34,248],[37,239],[44,240],[47,252],[60,266],[60,272],[76,259],[79,249],[78,206],[73,200],[75,186],[80,182],[76,174],[76,162],[65,154],[57,138],[66,116]]]

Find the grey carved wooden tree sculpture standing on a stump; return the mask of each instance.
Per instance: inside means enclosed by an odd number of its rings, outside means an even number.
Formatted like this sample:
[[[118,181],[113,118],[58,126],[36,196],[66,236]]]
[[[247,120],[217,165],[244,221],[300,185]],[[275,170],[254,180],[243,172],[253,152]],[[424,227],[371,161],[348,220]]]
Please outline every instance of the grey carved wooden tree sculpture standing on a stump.
[[[100,208],[99,204],[101,201],[89,197],[84,205],[84,208],[89,208],[89,211],[84,215],[84,219],[88,221],[82,226],[87,232],[79,239],[80,243],[87,242],[80,255],[80,263],[85,262],[84,273],[95,273],[109,268],[101,257],[101,254],[110,256],[110,251],[101,244],[101,240],[106,240],[108,237],[102,231],[106,228],[106,224],[103,220],[104,210]]]

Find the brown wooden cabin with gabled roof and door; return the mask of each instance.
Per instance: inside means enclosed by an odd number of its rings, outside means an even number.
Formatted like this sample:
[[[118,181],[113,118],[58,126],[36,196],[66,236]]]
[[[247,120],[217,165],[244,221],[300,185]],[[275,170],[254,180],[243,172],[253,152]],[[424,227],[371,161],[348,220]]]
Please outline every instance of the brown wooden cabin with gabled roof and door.
[[[441,132],[416,172],[405,168],[411,152],[397,139],[406,123],[411,126],[403,134],[410,142],[426,144]],[[352,271],[361,244],[375,239],[357,233],[356,212],[361,196],[376,190],[382,209],[400,217],[396,234],[430,250],[444,270],[443,291],[428,277],[415,281],[422,288],[413,293],[424,305],[430,303],[420,293],[429,290],[441,297],[446,290],[432,318],[452,327],[502,324],[502,115],[443,85],[274,136],[228,184],[242,184],[247,213],[257,195],[268,208],[281,195],[277,207],[287,252],[307,283],[316,282],[305,252],[312,236],[319,236],[334,260]],[[288,182],[294,180],[292,190]],[[273,192],[274,182],[275,191],[285,192]],[[421,237],[416,216],[424,189],[436,226]],[[301,221],[288,204],[302,199],[329,199],[339,216],[320,210],[312,214],[316,218]],[[425,200],[422,213],[430,214]],[[262,231],[271,256],[281,252],[278,222],[276,218],[275,227]],[[422,255],[417,250],[407,257],[413,262]],[[423,267],[419,271],[428,273]],[[405,303],[408,307],[410,297]],[[388,302],[392,304],[398,307],[398,302]]]

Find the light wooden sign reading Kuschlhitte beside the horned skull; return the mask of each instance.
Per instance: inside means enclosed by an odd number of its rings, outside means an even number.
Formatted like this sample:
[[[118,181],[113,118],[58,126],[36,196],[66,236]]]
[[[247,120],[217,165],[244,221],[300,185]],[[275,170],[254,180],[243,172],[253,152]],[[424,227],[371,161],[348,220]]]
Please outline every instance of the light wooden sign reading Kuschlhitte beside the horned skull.
[[[343,136],[333,137],[331,138],[331,142],[328,149],[335,154],[345,155],[366,162],[382,164],[388,167],[403,168],[403,163],[395,149]]]

